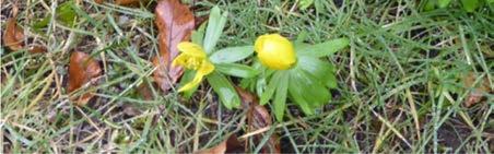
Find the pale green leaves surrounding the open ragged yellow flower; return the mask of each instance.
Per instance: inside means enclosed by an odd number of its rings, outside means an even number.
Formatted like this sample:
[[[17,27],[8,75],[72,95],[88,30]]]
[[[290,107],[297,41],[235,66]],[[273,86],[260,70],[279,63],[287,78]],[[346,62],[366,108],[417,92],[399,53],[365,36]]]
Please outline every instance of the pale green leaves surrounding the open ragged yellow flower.
[[[252,46],[227,47],[221,50],[214,50],[223,28],[226,24],[227,12],[221,14],[220,8],[214,7],[211,10],[208,24],[202,24],[198,31],[192,32],[192,43],[202,45],[209,55],[209,60],[214,64],[214,71],[205,76],[208,83],[220,97],[222,104],[228,108],[237,108],[240,106],[240,98],[235,91],[232,82],[225,75],[237,78],[252,78],[258,71],[244,64],[234,63],[252,55]],[[193,80],[195,71],[187,70],[180,80],[179,86]],[[186,91],[184,96],[190,96],[197,91],[197,86]]]

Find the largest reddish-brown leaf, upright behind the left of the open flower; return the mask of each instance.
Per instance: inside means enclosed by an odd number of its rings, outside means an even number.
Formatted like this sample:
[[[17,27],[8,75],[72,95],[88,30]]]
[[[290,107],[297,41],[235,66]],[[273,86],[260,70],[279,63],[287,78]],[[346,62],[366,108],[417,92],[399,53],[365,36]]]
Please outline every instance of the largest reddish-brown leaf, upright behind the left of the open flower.
[[[155,24],[160,32],[160,56],[153,59],[154,80],[167,92],[184,73],[181,67],[172,67],[172,60],[178,55],[177,45],[188,40],[195,27],[193,14],[178,0],[161,0],[156,9]]]

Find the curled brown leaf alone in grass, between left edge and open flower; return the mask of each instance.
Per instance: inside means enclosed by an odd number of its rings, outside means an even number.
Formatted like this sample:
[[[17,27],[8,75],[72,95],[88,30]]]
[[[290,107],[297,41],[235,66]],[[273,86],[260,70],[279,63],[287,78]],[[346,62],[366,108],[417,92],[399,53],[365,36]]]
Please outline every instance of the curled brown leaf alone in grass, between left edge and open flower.
[[[91,56],[81,51],[73,51],[69,62],[69,93],[79,90],[87,83],[94,84],[94,79],[102,74],[99,63]],[[92,92],[85,93],[77,98],[72,98],[79,106],[84,106],[94,96]]]

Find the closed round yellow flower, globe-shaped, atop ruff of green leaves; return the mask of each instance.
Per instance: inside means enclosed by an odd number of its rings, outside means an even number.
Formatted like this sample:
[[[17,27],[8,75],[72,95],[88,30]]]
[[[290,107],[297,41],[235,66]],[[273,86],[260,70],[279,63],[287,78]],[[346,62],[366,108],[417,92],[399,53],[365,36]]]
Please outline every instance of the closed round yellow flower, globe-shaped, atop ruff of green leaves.
[[[286,70],[296,62],[292,43],[280,34],[259,36],[254,46],[261,63],[270,69]]]

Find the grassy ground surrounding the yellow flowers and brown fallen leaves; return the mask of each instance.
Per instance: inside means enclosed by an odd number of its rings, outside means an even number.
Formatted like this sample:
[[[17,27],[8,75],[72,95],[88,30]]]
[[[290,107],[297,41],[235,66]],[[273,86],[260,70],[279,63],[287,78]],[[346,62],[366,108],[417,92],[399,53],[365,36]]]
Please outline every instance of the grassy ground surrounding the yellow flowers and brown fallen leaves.
[[[2,33],[14,2],[2,1]],[[139,85],[153,84],[155,0],[129,8],[77,0],[74,26],[51,22],[39,29],[33,25],[62,1],[17,2],[19,25],[48,51],[12,52],[2,44],[2,152],[178,153],[246,133],[246,112],[221,106],[207,84],[190,100],[157,88],[151,99],[140,95]],[[482,91],[467,106],[475,86],[464,84],[472,78],[494,87],[492,7],[467,13],[455,5],[424,12],[408,0],[316,0],[305,10],[295,0],[184,2],[199,19],[213,5],[230,12],[222,47],[251,45],[273,32],[293,39],[305,33],[310,44],[351,40],[327,58],[337,66],[332,100],[315,116],[289,103],[285,121],[267,131],[280,137],[282,152],[494,152],[494,95]],[[81,91],[96,91],[83,107],[72,105],[66,90],[74,50],[103,66],[97,85]]]

